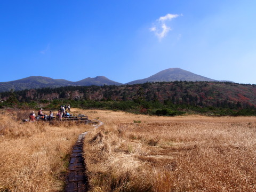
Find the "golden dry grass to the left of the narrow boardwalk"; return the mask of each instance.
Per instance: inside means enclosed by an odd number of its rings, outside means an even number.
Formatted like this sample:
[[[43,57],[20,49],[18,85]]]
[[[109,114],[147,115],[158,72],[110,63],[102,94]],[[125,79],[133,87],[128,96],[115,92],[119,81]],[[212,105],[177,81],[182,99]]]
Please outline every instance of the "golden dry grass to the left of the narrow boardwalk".
[[[71,147],[91,126],[22,123],[29,111],[0,114],[0,191],[62,191]]]

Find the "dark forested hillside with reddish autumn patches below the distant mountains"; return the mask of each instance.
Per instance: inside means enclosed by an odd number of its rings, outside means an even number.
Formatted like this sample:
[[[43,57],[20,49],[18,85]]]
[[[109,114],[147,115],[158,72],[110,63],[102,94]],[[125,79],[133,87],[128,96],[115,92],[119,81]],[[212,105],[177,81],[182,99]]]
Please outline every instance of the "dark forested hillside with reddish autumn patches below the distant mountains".
[[[84,103],[81,105],[92,108],[106,107],[107,103],[113,102],[130,103],[129,105],[132,102],[132,106],[121,107],[121,109],[126,110],[136,106],[145,113],[164,108],[205,112],[215,109],[232,109],[237,112],[242,109],[254,109],[256,106],[256,85],[230,82],[175,81],[121,86],[66,86],[54,89],[23,90],[12,94],[15,94],[18,102],[21,103],[59,103],[65,100],[65,102]],[[7,101],[12,94],[3,92],[1,97]],[[98,104],[95,106],[86,104],[92,102]],[[111,105],[107,108],[115,109]],[[116,107],[116,109],[119,108]]]

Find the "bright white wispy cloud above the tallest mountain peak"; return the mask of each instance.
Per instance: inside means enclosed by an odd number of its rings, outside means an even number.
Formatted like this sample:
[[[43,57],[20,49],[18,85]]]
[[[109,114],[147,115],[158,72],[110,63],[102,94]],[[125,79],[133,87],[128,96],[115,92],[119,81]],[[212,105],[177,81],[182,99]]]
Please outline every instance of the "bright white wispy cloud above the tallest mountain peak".
[[[172,30],[171,27],[167,26],[168,21],[171,21],[174,18],[177,18],[179,16],[183,16],[183,15],[168,13],[165,16],[157,19],[156,22],[153,23],[153,26],[149,30],[153,31],[155,35],[158,37],[159,41],[161,41],[168,34],[168,32]]]

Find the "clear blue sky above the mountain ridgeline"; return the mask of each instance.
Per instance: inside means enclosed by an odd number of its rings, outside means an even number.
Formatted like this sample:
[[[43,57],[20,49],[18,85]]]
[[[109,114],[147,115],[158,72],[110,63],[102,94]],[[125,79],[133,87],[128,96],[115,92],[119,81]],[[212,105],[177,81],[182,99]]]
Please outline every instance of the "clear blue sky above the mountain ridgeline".
[[[179,67],[255,84],[256,1],[1,1],[0,82],[127,83]]]

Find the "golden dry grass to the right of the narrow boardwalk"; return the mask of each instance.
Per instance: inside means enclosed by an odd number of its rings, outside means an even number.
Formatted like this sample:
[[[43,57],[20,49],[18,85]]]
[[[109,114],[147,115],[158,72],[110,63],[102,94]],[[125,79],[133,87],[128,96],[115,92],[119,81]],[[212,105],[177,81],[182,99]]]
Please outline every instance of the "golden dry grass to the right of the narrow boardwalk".
[[[90,191],[256,191],[255,117],[84,113]]]

